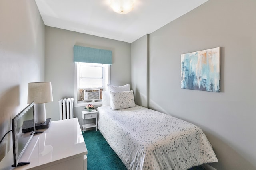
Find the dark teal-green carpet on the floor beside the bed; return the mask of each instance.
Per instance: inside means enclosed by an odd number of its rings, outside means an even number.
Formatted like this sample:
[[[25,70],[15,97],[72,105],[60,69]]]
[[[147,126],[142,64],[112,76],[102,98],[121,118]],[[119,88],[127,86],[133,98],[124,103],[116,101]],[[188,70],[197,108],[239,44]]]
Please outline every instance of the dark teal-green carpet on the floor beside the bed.
[[[100,131],[85,131],[84,141],[88,150],[87,170],[127,170],[123,162],[108,145]],[[206,170],[196,166],[189,170]]]

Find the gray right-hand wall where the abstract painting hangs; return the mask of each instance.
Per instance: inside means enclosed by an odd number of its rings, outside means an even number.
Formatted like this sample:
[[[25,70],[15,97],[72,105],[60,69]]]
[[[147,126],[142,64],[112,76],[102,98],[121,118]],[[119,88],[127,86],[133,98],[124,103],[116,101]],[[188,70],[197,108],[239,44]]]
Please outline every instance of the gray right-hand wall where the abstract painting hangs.
[[[209,0],[150,34],[150,108],[201,127],[218,170],[256,169],[255,8],[255,0]],[[181,54],[214,47],[221,92],[181,89]]]

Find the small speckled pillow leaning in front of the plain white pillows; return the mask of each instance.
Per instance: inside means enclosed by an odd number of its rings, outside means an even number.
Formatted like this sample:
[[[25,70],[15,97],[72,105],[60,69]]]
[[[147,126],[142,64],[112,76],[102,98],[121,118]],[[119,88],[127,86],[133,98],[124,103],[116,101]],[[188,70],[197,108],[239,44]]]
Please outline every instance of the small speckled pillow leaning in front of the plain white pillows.
[[[135,107],[133,90],[125,92],[110,92],[112,110]]]

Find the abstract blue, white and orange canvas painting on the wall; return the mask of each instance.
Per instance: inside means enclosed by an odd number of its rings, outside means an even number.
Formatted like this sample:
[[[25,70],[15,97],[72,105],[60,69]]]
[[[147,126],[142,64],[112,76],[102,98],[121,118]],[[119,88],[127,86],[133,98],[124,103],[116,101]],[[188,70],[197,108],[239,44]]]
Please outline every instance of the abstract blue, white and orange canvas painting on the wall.
[[[181,55],[181,88],[220,92],[220,47]]]

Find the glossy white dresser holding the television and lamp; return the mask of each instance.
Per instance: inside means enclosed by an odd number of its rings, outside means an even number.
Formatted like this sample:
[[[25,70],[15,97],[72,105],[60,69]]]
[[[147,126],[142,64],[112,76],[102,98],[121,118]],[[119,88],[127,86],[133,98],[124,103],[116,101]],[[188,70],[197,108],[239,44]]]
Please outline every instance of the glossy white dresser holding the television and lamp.
[[[0,162],[0,170],[87,170],[87,148],[78,119],[52,121],[47,129],[32,137],[19,162],[12,167],[12,149]]]

